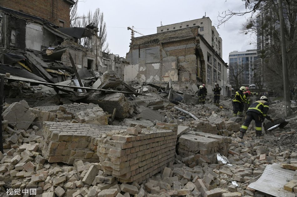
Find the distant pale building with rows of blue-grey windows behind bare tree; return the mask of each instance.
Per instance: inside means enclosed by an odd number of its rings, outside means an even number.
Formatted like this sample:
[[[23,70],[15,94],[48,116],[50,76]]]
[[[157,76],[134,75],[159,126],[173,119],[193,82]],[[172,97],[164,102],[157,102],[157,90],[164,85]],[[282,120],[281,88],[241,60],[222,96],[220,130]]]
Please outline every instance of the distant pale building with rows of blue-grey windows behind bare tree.
[[[258,67],[257,49],[229,53],[229,83],[233,88],[255,83],[254,72]]]

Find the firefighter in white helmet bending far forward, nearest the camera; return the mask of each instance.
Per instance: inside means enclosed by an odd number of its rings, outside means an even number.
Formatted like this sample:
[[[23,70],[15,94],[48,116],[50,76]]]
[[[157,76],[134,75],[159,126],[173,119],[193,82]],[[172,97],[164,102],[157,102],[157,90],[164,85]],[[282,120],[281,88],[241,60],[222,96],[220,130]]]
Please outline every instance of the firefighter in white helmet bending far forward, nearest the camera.
[[[266,96],[262,96],[259,101],[254,102],[248,109],[245,115],[245,120],[243,125],[240,128],[239,138],[243,138],[246,130],[249,127],[249,124],[252,120],[255,120],[256,125],[256,137],[262,136],[262,123],[264,119],[270,120],[273,122],[273,119],[267,116],[269,109],[268,99]]]

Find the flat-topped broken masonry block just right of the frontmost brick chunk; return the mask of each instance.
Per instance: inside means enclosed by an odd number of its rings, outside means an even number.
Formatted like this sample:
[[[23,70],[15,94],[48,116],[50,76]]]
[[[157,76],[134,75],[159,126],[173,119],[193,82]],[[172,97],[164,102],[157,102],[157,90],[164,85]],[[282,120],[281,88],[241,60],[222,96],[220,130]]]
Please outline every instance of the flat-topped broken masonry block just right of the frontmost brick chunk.
[[[178,154],[195,156],[196,163],[212,163],[216,153],[227,155],[231,139],[204,132],[188,132],[179,137]],[[205,157],[206,156],[206,157]]]

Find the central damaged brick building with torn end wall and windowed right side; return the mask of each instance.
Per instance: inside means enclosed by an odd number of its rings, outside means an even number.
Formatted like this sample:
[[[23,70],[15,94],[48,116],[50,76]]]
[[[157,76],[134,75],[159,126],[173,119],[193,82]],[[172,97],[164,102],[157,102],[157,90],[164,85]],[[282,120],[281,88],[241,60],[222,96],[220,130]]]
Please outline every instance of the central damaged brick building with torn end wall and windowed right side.
[[[202,35],[198,26],[170,29],[148,36],[131,39],[127,59],[130,65],[125,67],[124,80],[146,82],[168,82],[174,88],[189,84],[206,84],[211,92],[215,83],[222,87],[221,94],[227,95],[230,85],[227,83],[227,65],[222,60],[222,41],[208,17],[203,21],[210,23]],[[173,25],[169,25],[173,26]],[[174,27],[175,28],[175,27]],[[216,42],[214,42],[216,40]]]

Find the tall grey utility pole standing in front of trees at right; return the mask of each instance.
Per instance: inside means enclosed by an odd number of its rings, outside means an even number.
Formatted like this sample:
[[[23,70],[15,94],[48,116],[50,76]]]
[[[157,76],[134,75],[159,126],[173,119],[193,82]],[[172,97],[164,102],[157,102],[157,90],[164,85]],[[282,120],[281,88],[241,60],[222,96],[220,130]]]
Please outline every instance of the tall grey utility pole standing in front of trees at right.
[[[284,114],[285,114],[285,117],[288,117],[291,115],[291,101],[290,101],[290,94],[289,94],[287,50],[286,50],[286,40],[284,37],[284,25],[285,24],[284,24],[282,0],[279,0],[279,25],[280,25],[280,39],[281,39],[283,81],[284,81]]]

